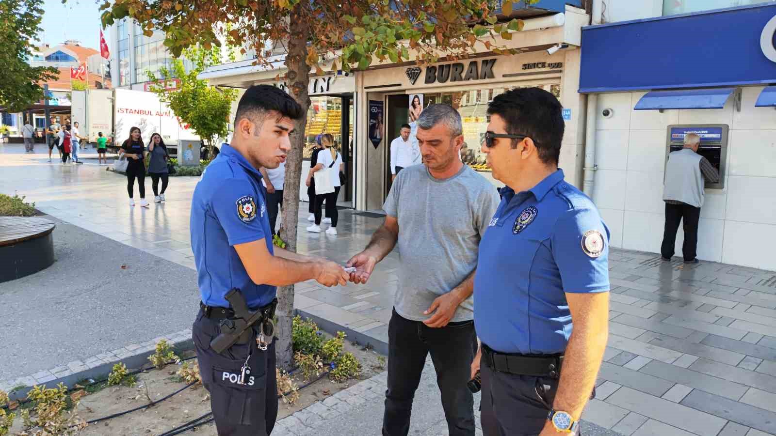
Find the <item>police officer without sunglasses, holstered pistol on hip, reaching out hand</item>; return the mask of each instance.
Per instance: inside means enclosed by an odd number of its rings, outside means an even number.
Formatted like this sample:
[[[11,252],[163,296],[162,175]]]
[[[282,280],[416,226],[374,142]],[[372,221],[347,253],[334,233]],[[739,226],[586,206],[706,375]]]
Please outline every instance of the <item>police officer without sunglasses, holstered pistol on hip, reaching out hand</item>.
[[[248,88],[237,106],[231,144],[223,144],[192,197],[192,251],[202,299],[192,337],[220,436],[265,436],[275,426],[275,344],[266,331],[275,286],[309,279],[345,285],[349,279],[341,265],[272,246],[258,168],[285,161],[294,120],[303,116],[301,106],[279,88]],[[234,327],[241,320],[239,308],[227,301],[235,292],[261,319],[219,353],[211,342],[223,338],[222,324]]]

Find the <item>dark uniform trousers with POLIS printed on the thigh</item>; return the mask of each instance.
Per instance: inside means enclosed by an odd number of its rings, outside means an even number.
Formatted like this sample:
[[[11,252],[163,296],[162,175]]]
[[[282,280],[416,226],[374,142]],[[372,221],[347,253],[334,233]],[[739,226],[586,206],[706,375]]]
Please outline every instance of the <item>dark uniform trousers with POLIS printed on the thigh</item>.
[[[275,341],[267,351],[259,350],[252,339],[217,354],[210,348],[210,341],[219,333],[218,320],[210,320],[199,310],[192,326],[192,339],[199,360],[199,374],[205,389],[210,392],[210,407],[218,434],[267,436],[272,433],[278,417]],[[246,358],[250,372],[241,384],[239,378]]]

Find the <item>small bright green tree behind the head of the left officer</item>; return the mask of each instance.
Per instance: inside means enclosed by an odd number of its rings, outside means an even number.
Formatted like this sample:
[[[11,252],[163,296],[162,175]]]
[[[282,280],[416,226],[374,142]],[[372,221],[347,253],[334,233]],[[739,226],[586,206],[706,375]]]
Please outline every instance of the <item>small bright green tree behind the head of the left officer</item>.
[[[213,156],[217,138],[227,137],[230,111],[232,102],[237,98],[237,90],[209,86],[206,80],[196,78],[211,64],[220,64],[218,48],[210,50],[210,53],[192,48],[186,50],[185,57],[194,65],[188,72],[181,57],[172,61],[170,68],[162,67],[160,77],[149,71],[148,80],[160,81],[160,85],[152,86],[151,91],[168,102],[175,116],[202,138],[208,156]],[[165,88],[165,83],[171,78],[180,80],[178,89]]]

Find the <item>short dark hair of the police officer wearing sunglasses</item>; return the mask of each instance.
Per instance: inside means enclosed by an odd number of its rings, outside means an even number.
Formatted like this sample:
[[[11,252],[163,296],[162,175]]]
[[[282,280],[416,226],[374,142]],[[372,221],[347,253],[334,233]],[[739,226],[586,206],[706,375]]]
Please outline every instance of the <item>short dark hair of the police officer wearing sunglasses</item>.
[[[497,95],[488,104],[488,115],[501,116],[507,133],[530,137],[539,159],[557,164],[563,142],[563,106],[555,95],[541,88],[518,88]],[[517,140],[513,140],[513,146]]]

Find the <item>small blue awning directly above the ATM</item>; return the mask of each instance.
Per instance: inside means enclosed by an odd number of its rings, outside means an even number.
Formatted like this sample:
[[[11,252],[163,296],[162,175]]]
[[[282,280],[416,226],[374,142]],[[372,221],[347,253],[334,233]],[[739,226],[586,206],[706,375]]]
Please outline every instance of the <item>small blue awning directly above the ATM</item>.
[[[722,109],[733,88],[647,92],[633,109]]]

